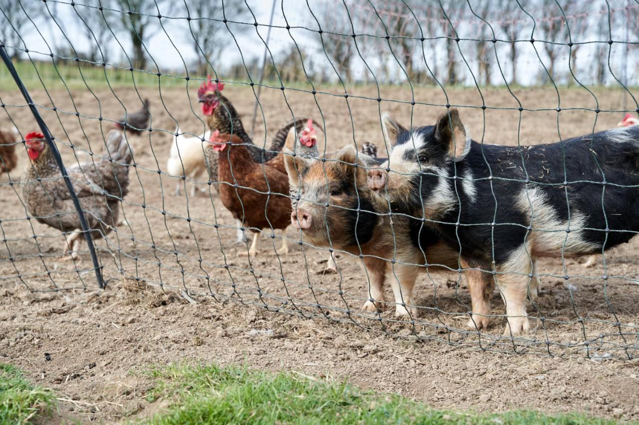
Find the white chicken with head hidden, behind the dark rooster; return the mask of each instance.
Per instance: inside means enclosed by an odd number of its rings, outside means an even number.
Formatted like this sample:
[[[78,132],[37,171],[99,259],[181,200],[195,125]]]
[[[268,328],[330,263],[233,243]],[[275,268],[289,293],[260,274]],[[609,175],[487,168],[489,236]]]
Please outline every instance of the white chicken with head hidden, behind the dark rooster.
[[[195,180],[202,175],[204,170],[206,170],[204,146],[208,145],[210,135],[211,131],[207,130],[200,137],[187,137],[180,132],[180,126],[178,126],[173,136],[169,159],[166,161],[167,174],[189,177],[191,180]],[[180,195],[181,185],[180,181],[175,184],[176,195]],[[191,196],[195,196],[195,194],[196,186],[193,184]]]

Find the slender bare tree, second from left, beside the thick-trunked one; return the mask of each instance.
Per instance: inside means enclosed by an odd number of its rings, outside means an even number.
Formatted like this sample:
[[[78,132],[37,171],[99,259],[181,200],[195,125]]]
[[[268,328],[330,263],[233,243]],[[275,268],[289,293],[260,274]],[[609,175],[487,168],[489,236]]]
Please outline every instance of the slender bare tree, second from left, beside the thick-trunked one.
[[[73,20],[87,41],[86,56],[91,62],[109,62],[111,15],[100,11],[100,0],[84,0],[84,6],[73,7]]]

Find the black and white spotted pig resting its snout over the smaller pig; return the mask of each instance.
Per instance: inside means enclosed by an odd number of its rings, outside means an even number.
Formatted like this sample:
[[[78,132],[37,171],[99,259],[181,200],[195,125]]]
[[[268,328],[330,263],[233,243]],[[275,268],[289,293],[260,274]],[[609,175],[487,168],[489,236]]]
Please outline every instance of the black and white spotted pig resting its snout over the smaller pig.
[[[534,258],[602,253],[639,231],[639,126],[521,147],[474,142],[456,109],[410,130],[385,116],[383,128],[396,145],[369,187],[493,274],[505,334],[529,329]]]

